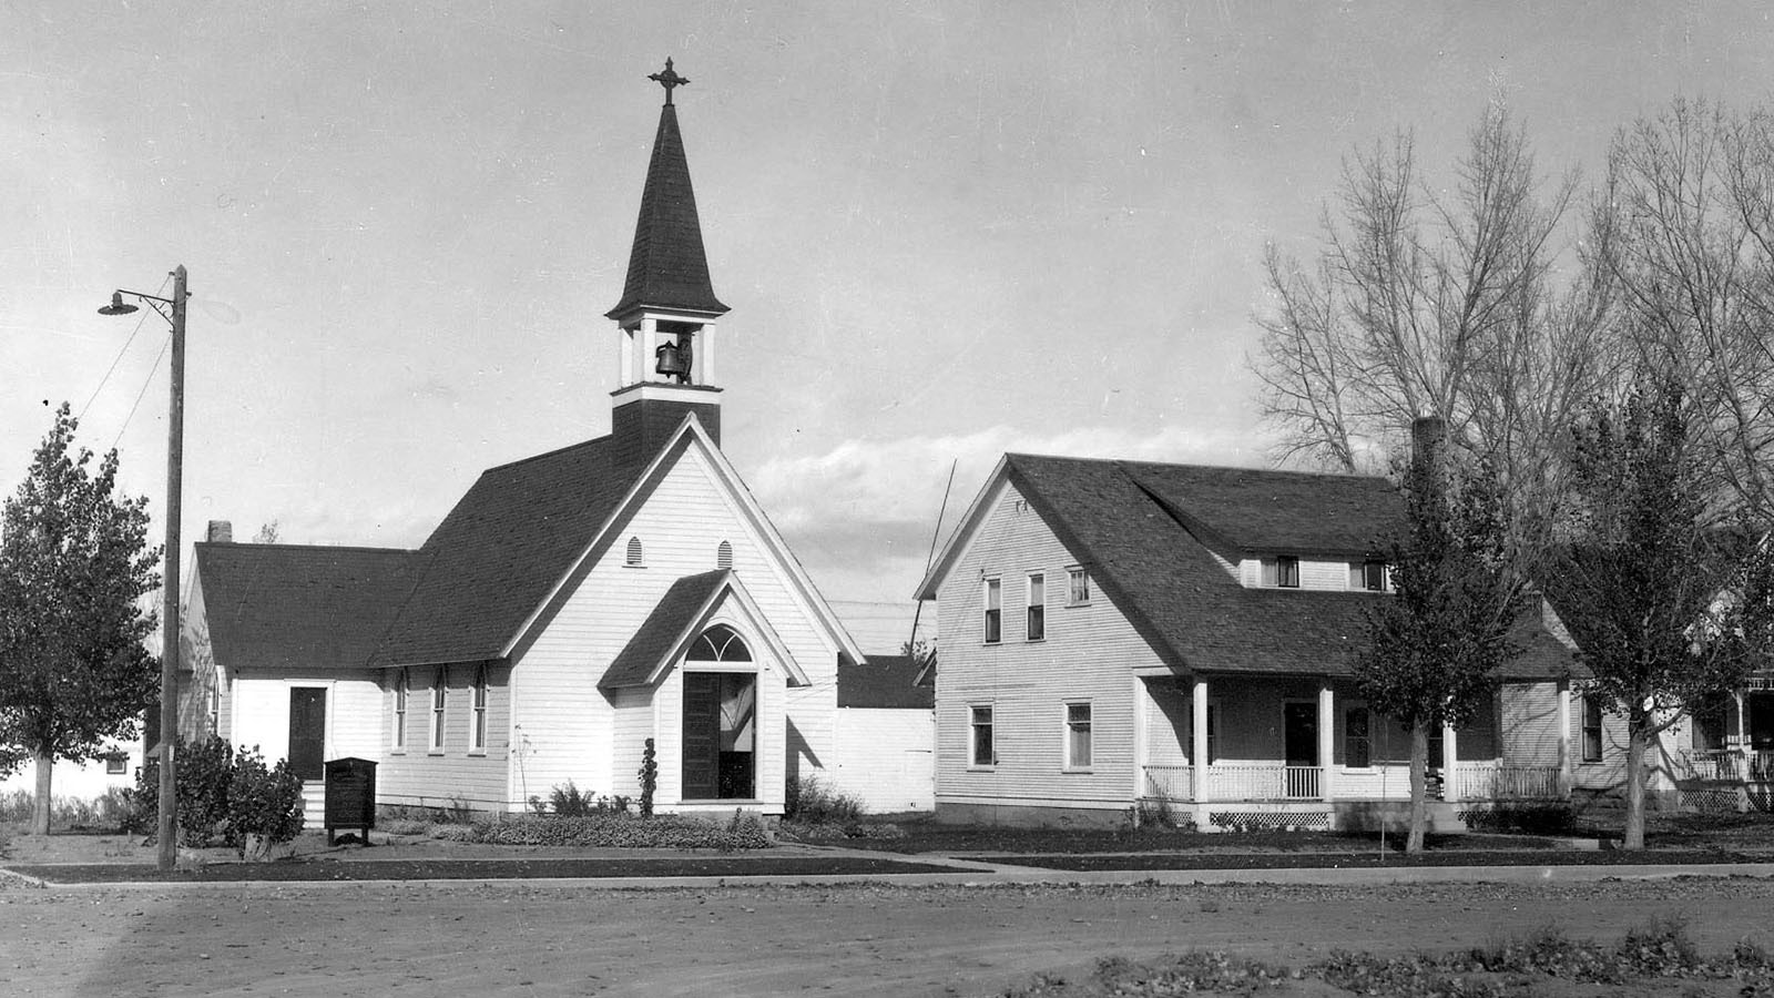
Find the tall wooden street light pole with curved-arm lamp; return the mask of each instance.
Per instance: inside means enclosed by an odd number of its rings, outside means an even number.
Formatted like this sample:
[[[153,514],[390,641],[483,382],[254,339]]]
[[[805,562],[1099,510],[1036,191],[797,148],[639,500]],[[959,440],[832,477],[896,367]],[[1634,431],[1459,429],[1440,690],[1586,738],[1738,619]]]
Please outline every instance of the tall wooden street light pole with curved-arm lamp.
[[[160,638],[160,856],[161,870],[170,870],[179,858],[174,842],[174,806],[177,781],[172,767],[172,739],[179,730],[179,503],[184,467],[184,265],[172,272],[172,297],[144,295],[142,291],[112,291],[112,304],[99,309],[101,316],[126,316],[137,311],[124,295],[147,302],[160,318],[172,323],[172,403],[167,417],[167,575],[165,609]]]

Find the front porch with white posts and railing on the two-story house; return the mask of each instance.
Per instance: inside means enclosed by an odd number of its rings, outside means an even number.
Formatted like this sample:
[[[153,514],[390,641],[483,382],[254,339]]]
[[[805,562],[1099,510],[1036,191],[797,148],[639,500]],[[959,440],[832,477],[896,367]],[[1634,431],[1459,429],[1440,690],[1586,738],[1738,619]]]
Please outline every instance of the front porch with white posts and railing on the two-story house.
[[[1535,751],[1506,739],[1513,698],[1430,741],[1430,799],[1456,812],[1570,796],[1570,696],[1540,684]],[[1203,829],[1343,828],[1410,799],[1410,739],[1313,677],[1142,677],[1137,797],[1187,810]]]

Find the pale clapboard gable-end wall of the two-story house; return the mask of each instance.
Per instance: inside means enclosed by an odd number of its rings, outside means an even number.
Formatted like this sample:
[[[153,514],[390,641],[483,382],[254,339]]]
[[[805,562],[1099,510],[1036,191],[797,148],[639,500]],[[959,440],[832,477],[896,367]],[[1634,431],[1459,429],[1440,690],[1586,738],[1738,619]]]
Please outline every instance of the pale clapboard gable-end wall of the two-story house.
[[[988,497],[974,542],[938,593],[937,801],[1064,799],[1080,808],[1126,806],[1135,788],[1132,669],[1160,666],[1151,648],[1093,581],[1091,602],[1068,607],[1066,568],[1077,554],[1008,481]],[[1047,636],[1025,639],[1025,581],[1047,575]],[[1002,579],[1004,629],[983,641],[985,577]],[[1068,701],[1091,703],[1091,769],[1064,771]],[[993,709],[997,765],[969,765],[970,709]]]

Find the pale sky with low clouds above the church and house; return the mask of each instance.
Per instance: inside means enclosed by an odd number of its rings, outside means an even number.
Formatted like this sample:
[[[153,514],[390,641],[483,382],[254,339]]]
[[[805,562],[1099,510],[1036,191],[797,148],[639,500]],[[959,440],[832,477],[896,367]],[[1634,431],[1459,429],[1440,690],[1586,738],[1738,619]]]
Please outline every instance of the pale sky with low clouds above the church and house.
[[[662,92],[717,295],[722,448],[834,600],[910,600],[1004,451],[1263,467],[1265,245],[1354,149],[1432,186],[1487,107],[1549,178],[1676,96],[1758,107],[1753,4],[0,0],[0,488],[69,401],[186,549],[417,547],[608,432]],[[137,321],[140,320],[140,321]],[[188,558],[188,556],[186,556]]]

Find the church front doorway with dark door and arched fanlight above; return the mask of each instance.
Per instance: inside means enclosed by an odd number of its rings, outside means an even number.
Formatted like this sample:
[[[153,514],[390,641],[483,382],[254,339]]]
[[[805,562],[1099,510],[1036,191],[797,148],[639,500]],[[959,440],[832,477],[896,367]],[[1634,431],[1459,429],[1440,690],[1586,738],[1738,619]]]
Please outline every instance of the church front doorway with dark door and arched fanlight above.
[[[726,623],[697,636],[683,671],[683,799],[756,797],[757,673],[699,671],[697,664],[743,664],[752,650]]]

